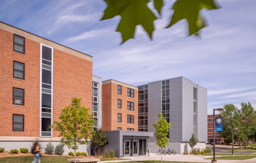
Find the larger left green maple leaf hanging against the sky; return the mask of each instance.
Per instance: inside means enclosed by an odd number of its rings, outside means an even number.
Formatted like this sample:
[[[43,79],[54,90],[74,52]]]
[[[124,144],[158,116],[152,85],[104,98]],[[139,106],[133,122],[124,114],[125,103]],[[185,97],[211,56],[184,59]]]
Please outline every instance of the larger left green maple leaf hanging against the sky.
[[[116,31],[121,33],[122,43],[134,38],[135,27],[140,24],[152,39],[153,21],[156,20],[156,16],[147,6],[149,0],[105,0],[105,2],[107,8],[101,20],[121,16]]]

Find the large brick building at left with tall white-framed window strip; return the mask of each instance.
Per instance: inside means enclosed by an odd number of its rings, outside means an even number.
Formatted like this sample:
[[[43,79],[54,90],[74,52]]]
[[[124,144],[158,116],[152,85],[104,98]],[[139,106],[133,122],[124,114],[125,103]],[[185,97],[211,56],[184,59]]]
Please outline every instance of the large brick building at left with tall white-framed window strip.
[[[92,56],[3,22],[0,45],[1,146],[56,145],[59,133],[49,125],[71,98],[92,109]]]

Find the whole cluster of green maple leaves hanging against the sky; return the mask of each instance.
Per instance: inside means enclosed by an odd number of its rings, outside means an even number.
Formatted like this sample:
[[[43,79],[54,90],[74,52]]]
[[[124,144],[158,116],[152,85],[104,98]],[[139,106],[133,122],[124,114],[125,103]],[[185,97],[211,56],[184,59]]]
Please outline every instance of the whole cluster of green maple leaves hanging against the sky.
[[[152,1],[152,0],[151,0]],[[161,17],[161,9],[164,7],[163,0],[153,0],[157,14],[154,14],[147,6],[149,0],[105,0],[107,8],[101,20],[111,19],[121,16],[116,31],[120,32],[123,38],[122,43],[130,38],[134,38],[135,27],[142,25],[146,33],[152,39],[155,30],[153,21]],[[176,0],[172,9],[171,22],[166,28],[171,27],[182,19],[187,19],[189,35],[199,35],[199,30],[206,26],[203,16],[200,14],[202,9],[218,9],[214,0]]]

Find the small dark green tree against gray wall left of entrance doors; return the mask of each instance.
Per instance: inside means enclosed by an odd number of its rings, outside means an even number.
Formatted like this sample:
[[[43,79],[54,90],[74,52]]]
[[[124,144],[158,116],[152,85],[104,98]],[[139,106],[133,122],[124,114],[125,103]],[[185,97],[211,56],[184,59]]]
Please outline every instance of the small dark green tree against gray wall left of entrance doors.
[[[97,131],[92,136],[92,144],[95,144],[99,148],[99,156],[100,156],[100,147],[104,146],[108,142],[108,135],[106,132],[102,131],[102,128],[98,128]]]

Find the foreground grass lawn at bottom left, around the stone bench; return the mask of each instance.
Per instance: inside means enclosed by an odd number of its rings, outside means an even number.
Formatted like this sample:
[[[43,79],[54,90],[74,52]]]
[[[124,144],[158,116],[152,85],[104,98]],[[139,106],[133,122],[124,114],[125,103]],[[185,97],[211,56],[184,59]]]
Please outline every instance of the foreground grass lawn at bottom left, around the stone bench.
[[[41,163],[70,163],[67,161],[67,156],[41,156]],[[18,157],[5,157],[0,158],[0,163],[31,163],[33,156],[18,156]],[[130,159],[120,159],[120,158],[101,158],[100,161],[110,161],[110,160],[130,160]]]

